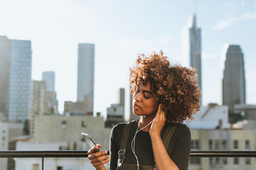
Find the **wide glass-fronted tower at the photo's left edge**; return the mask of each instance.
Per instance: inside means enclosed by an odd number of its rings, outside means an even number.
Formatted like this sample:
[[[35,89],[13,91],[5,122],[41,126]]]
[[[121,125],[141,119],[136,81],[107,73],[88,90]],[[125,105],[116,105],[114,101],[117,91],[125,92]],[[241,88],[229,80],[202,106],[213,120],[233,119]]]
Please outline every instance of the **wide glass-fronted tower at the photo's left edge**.
[[[29,118],[31,60],[31,41],[0,36],[0,111],[10,122]]]

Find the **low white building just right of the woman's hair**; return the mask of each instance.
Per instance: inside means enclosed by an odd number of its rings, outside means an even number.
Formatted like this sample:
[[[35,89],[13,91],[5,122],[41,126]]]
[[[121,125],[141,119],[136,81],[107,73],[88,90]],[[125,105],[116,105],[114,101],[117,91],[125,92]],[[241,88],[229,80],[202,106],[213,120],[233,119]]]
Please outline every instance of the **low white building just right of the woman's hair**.
[[[200,111],[193,115],[194,120],[185,121],[191,129],[215,129],[228,128],[228,106],[218,106],[211,103],[208,106],[201,106]]]

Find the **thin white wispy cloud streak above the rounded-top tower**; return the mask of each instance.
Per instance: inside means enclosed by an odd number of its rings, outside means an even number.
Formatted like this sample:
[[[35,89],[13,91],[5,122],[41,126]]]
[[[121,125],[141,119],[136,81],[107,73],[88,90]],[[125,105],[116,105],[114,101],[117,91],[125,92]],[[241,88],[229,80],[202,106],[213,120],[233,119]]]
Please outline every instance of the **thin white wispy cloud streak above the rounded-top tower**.
[[[216,23],[215,26],[213,26],[213,29],[223,30],[225,28],[228,28],[235,22],[246,20],[246,19],[256,19],[256,13],[245,13],[243,16],[233,17],[233,18],[222,20],[222,21],[218,21],[218,23]]]

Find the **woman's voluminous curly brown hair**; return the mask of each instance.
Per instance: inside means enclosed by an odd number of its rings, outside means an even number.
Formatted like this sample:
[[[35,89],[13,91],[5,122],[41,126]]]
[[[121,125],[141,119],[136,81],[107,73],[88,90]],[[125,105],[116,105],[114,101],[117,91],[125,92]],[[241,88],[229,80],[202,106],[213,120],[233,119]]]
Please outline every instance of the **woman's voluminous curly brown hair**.
[[[171,66],[162,51],[152,52],[149,57],[138,55],[136,64],[130,71],[130,94],[134,94],[139,84],[150,82],[156,100],[167,110],[168,123],[183,123],[193,120],[193,114],[200,110],[201,91],[196,84],[195,69],[176,64]]]

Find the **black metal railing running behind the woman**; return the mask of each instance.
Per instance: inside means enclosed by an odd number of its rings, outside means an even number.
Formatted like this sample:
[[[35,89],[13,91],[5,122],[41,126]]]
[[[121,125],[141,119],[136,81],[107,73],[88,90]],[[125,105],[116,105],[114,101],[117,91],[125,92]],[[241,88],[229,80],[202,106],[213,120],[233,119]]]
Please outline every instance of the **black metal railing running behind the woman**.
[[[108,152],[107,154],[110,154]],[[0,151],[0,158],[44,158],[88,157],[87,151]],[[256,151],[191,151],[191,157],[256,157]]]

